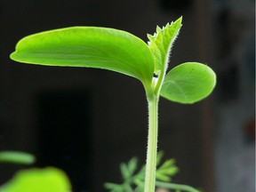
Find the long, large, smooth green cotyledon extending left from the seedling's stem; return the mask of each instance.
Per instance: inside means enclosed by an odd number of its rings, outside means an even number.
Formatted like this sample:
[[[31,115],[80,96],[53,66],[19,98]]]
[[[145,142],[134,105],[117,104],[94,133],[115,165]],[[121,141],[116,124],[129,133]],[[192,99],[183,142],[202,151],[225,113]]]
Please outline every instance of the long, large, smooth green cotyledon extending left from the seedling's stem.
[[[71,27],[24,37],[11,59],[49,66],[103,68],[151,84],[154,59],[139,37],[114,28]]]

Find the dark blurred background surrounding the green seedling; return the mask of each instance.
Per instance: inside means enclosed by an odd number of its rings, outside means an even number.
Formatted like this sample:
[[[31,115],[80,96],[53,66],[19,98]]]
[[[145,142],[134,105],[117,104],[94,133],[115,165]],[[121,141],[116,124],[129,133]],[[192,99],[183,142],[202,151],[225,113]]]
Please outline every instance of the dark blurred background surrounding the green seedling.
[[[70,26],[123,29],[147,42],[156,25],[182,15],[170,68],[202,62],[216,71],[218,84],[194,105],[160,100],[159,149],[177,160],[177,183],[254,191],[253,0],[1,0],[0,6],[0,150],[27,151],[37,157],[34,166],[63,169],[75,192],[120,181],[119,164],[132,156],[144,164],[148,112],[139,81],[92,68],[24,65],[9,54],[23,36]],[[1,184],[20,168],[1,164]]]

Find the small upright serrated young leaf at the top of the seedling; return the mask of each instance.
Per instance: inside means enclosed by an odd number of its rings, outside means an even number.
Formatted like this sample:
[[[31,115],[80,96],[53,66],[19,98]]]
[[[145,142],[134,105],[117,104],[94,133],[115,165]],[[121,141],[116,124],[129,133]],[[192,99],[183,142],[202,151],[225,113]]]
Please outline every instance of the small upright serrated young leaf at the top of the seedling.
[[[163,73],[167,69],[172,44],[179,34],[182,18],[167,24],[164,28],[156,28],[154,36],[148,35],[148,46],[153,52],[155,60],[155,73]]]

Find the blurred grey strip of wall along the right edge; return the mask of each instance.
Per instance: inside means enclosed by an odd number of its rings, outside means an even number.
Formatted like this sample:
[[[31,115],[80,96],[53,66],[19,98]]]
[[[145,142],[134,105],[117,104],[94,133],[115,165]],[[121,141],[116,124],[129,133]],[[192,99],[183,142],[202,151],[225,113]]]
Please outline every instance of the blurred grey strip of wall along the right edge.
[[[217,191],[255,191],[255,1],[212,1]]]

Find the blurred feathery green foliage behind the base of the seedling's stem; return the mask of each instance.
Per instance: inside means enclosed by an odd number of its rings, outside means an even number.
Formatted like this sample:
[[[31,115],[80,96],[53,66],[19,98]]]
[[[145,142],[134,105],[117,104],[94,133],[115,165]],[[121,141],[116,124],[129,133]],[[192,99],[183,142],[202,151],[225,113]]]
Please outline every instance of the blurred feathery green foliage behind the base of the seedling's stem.
[[[174,159],[163,160],[164,153],[160,151],[157,154],[156,180],[171,181],[172,177],[179,171]],[[140,169],[138,159],[133,157],[127,164],[120,164],[120,171],[123,177],[123,183],[105,183],[104,186],[111,192],[141,192],[144,189],[145,165]]]

